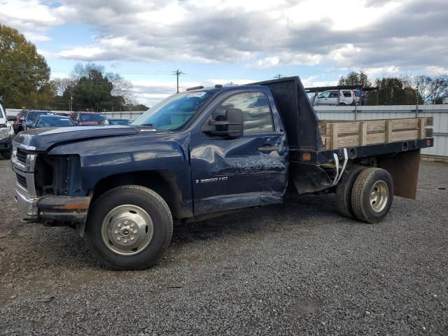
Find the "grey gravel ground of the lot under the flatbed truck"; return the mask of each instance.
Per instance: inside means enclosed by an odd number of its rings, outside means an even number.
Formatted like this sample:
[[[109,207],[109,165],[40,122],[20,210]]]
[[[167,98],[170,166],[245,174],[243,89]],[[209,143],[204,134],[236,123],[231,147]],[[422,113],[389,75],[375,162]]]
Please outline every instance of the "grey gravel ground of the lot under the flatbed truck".
[[[0,335],[448,335],[448,165],[424,162],[383,223],[294,197],[176,228],[140,272],[22,222],[13,184],[0,160]]]

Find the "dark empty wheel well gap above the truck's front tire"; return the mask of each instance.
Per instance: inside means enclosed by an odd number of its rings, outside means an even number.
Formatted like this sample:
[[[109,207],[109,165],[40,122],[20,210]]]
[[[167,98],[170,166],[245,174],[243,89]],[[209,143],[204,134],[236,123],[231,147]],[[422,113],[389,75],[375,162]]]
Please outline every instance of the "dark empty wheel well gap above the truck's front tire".
[[[136,185],[150,188],[167,202],[172,215],[182,218],[182,194],[174,173],[158,170],[107,176],[94,186],[91,204],[106,191],[119,186]]]

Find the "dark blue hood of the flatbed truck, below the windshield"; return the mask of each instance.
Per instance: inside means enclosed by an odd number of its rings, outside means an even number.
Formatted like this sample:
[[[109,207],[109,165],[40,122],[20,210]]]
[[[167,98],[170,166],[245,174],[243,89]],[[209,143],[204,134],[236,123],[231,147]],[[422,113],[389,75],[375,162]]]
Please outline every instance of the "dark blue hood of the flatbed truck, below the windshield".
[[[82,127],[57,127],[57,128],[36,128],[25,132],[20,132],[15,137],[13,145],[24,147],[30,151],[48,151],[48,148],[55,144],[68,143],[79,140],[118,137],[133,134],[151,134],[155,129],[151,127],[130,127],[130,126],[82,126]]]

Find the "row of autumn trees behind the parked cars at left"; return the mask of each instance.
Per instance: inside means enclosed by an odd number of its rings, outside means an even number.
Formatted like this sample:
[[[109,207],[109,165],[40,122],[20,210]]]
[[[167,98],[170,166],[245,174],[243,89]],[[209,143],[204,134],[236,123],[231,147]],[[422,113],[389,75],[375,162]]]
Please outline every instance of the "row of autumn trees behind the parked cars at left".
[[[17,29],[0,25],[0,96],[10,109],[144,111],[132,84],[104,66],[78,63],[68,78],[50,80],[50,67]]]

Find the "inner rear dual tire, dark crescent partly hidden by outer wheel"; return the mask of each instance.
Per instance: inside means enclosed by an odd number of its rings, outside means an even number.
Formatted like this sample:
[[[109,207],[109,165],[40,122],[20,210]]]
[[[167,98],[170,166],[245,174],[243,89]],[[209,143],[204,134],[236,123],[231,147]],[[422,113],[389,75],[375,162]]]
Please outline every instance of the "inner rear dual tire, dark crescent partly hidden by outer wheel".
[[[336,187],[337,211],[343,216],[355,218],[351,207],[351,190],[359,173],[365,169],[363,166],[353,166],[346,169],[340,183]]]

